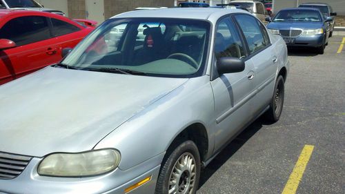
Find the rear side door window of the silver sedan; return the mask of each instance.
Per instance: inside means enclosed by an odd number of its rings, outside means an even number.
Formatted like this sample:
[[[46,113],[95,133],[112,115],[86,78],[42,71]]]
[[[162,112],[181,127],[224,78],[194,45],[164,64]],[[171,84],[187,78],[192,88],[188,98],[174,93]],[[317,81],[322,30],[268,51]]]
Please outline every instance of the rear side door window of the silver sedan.
[[[257,19],[249,15],[236,15],[235,18],[244,33],[250,54],[266,47],[268,42],[265,41],[262,28],[259,26]]]

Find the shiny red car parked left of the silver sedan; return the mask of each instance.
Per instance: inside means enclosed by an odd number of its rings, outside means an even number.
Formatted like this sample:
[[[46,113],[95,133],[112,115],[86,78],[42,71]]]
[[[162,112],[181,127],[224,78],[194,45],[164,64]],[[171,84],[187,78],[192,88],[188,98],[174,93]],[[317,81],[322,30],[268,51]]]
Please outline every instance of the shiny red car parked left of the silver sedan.
[[[59,62],[94,29],[49,12],[0,10],[0,85]]]

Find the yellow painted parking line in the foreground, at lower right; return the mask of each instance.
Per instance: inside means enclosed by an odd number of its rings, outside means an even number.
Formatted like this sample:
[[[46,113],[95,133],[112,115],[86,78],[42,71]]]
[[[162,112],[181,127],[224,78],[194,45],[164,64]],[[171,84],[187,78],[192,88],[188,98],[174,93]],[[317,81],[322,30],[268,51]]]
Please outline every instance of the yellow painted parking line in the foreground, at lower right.
[[[306,165],[308,164],[311,154],[313,153],[313,149],[314,146],[304,146],[301,155],[299,155],[295,168],[293,168],[293,173],[291,173],[290,177],[288,178],[288,182],[286,183],[282,194],[296,193],[299,182],[302,180],[304,170],[306,170]]]

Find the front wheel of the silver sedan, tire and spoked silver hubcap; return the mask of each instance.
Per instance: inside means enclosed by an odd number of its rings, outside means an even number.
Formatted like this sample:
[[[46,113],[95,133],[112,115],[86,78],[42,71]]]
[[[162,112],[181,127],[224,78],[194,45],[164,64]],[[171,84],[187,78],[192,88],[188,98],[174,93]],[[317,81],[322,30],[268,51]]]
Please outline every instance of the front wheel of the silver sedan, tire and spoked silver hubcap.
[[[194,164],[194,168],[188,165],[189,162]],[[163,159],[155,194],[174,193],[172,188],[175,188],[176,193],[195,194],[199,186],[200,168],[199,150],[193,141],[188,140],[175,146],[175,149],[167,151]]]

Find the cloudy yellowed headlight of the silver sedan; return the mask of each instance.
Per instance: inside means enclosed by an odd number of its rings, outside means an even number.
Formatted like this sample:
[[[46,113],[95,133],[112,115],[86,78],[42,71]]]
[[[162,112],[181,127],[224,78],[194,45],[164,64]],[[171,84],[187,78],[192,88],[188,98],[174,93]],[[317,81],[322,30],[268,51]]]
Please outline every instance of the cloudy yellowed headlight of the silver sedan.
[[[121,155],[114,149],[84,153],[54,153],[39,164],[39,175],[83,177],[108,173],[119,166]]]

